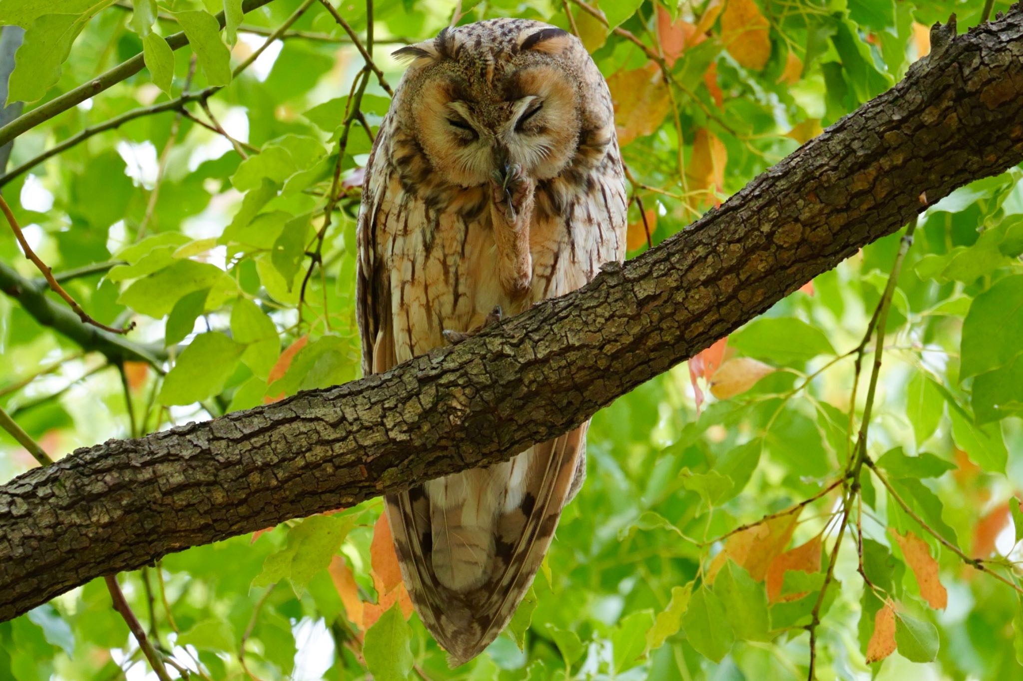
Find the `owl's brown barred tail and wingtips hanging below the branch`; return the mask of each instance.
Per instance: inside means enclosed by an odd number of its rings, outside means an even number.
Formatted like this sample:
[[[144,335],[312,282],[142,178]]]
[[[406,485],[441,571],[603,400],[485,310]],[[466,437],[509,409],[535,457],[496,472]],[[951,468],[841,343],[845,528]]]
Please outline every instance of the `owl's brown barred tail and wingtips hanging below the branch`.
[[[452,667],[497,637],[533,583],[576,480],[585,430],[583,424],[466,478],[441,479],[457,483],[443,497],[433,483],[388,496],[412,603]],[[488,508],[499,512],[489,515]]]

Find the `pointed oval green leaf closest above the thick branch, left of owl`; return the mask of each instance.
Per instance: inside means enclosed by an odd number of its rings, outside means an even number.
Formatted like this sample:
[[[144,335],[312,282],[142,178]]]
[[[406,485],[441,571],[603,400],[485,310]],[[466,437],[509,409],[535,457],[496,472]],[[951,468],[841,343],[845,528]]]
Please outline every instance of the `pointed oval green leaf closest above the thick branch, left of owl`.
[[[195,336],[164,378],[160,403],[192,404],[219,394],[244,349],[223,333]]]

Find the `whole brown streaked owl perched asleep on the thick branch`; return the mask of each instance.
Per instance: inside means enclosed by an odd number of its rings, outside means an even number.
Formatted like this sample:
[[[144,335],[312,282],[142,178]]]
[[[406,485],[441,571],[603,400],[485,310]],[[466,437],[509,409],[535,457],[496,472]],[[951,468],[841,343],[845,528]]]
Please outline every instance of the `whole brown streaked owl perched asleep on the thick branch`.
[[[399,49],[357,227],[365,372],[593,278],[625,256],[604,78],[574,36],[498,18]],[[452,666],[504,628],[585,474],[587,423],[510,460],[389,495],[402,577]]]

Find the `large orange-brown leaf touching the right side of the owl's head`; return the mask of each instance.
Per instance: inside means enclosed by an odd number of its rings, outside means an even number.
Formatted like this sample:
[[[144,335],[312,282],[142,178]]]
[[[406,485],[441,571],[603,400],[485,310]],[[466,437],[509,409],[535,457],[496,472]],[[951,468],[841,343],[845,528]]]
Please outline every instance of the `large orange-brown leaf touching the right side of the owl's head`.
[[[661,69],[653,61],[641,69],[619,71],[608,79],[615,105],[618,143],[625,146],[636,137],[661,127],[671,100]]]

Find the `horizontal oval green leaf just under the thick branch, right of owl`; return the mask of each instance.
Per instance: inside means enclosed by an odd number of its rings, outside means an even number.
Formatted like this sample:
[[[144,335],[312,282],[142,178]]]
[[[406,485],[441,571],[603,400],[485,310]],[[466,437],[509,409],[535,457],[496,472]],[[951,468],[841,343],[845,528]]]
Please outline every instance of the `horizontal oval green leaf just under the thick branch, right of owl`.
[[[728,346],[744,355],[786,365],[835,354],[824,331],[794,317],[752,321],[728,336]]]

